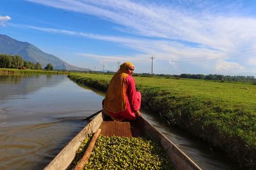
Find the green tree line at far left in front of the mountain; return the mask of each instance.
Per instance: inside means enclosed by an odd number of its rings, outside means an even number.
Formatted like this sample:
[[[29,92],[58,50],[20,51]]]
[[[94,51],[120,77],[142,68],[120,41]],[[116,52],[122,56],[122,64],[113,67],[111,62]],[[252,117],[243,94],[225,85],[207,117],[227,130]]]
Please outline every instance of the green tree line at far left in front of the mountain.
[[[10,69],[42,69],[39,62],[31,62],[22,59],[19,55],[0,54],[0,67]],[[45,70],[53,70],[51,63],[44,67]]]

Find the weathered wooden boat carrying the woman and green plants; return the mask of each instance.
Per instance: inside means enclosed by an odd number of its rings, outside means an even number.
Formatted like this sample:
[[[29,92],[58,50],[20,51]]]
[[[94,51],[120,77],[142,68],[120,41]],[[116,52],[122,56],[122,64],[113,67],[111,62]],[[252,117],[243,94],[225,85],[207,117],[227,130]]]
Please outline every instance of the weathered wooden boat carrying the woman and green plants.
[[[193,160],[182,152],[172,141],[167,139],[161,132],[159,132],[153,125],[151,125],[143,117],[139,117],[134,122],[113,122],[104,120],[102,113],[99,113],[93,120],[84,127],[73,138],[68,145],[61,150],[58,155],[48,164],[45,170],[61,170],[68,169],[72,160],[76,156],[77,149],[84,141],[84,139],[97,131],[102,129],[100,134],[102,136],[125,136],[125,137],[138,137],[138,136],[149,136],[152,140],[160,143],[164,150],[166,150],[168,157],[172,160],[175,169],[201,169],[198,167]]]

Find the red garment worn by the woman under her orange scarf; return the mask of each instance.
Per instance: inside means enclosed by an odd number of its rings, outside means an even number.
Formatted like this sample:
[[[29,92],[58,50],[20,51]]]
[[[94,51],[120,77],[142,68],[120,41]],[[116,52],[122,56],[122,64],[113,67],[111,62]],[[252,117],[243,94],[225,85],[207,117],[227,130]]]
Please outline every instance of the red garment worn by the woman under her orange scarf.
[[[141,105],[141,93],[136,92],[135,82],[132,76],[127,76],[126,78],[126,110],[120,111],[119,113],[112,113],[108,111],[106,113],[113,120],[130,120],[133,121],[136,119],[135,111],[140,110]],[[104,106],[104,100],[102,101],[102,106]]]

